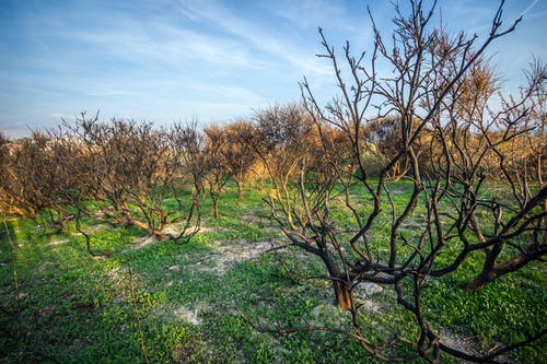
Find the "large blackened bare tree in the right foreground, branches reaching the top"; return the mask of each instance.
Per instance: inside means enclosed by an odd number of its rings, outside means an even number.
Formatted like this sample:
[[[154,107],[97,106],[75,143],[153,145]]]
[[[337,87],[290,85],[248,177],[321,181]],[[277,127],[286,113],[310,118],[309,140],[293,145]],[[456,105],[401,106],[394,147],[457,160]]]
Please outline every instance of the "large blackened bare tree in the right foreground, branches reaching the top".
[[[494,14],[489,36],[480,45],[477,45],[477,36],[449,35],[442,28],[432,27],[435,3],[426,9],[422,1],[411,1],[408,15],[395,5],[396,27],[391,44],[381,35],[371,15],[374,47],[368,58],[364,52],[354,57],[347,43],[344,47],[347,73],[342,73],[340,59],[319,28],[325,51],[319,57],[331,62],[340,95],[321,107],[305,79],[302,93],[319,130],[330,125],[342,132],[351,145],[356,173],[349,175],[352,168],[341,169],[331,164],[330,183],[310,184],[307,163],[301,158],[296,184],[299,202],[290,210],[272,208],[272,213],[294,246],[324,262],[339,307],[351,313],[353,331],[345,333],[381,360],[421,356],[438,363],[440,353],[445,352],[472,362],[494,363],[499,355],[526,345],[546,332],[540,329],[523,342],[482,356],[472,355],[440,339],[426,318],[422,300],[429,281],[453,273],[473,251],[482,253],[484,268],[467,286],[470,291],[529,261],[542,260],[547,253],[544,209],[547,188],[528,185],[524,197],[521,189],[515,188],[517,178],[523,176],[509,171],[509,157],[503,150],[515,138],[543,130],[545,114],[540,116],[540,128],[532,127],[526,120],[536,119],[535,110],[543,105],[539,99],[545,97],[544,68],[535,68],[529,85],[520,97],[507,99],[502,110],[493,111],[488,106],[496,80],[482,54],[491,42],[512,32],[520,22],[519,19],[502,28],[502,5]],[[379,74],[381,61],[393,69],[391,74]],[[384,153],[377,178],[371,178],[362,148],[363,131],[383,117],[392,118],[389,132],[397,141],[397,149]],[[324,145],[328,144],[322,139]],[[430,168],[423,168],[419,157],[427,148],[433,158]],[[492,158],[498,161],[505,183],[513,186],[509,196],[487,193],[491,174],[486,172]],[[396,203],[387,184],[395,166],[401,162],[408,169],[405,178],[411,185],[403,206]],[[347,181],[353,178],[365,193],[360,198],[351,197]],[[353,219],[349,235],[345,233],[347,230],[338,228],[342,222],[331,213],[335,181],[345,189],[342,210]],[[363,202],[366,200],[371,204]],[[301,211],[302,218],[294,223],[291,218],[295,210]],[[420,230],[406,228],[406,223],[416,219],[419,210],[426,211]],[[388,236],[379,238],[374,232],[386,221]],[[443,254],[453,259],[449,263],[438,259]],[[392,286],[397,304],[412,314],[418,339],[400,332],[385,343],[366,338],[359,320],[360,307],[352,294],[360,282]],[[406,356],[391,354],[393,348],[400,345],[411,347],[414,352]]]

